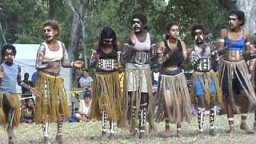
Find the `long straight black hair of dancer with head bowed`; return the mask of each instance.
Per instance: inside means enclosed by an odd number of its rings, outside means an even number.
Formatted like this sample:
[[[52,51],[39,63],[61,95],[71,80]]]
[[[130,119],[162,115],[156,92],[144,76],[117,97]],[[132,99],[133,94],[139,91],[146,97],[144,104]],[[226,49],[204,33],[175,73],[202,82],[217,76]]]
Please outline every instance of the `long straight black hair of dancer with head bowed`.
[[[100,38],[100,40],[99,40],[99,48],[101,49],[102,48],[102,46],[104,45],[103,44],[103,39],[104,38],[108,38],[108,39],[110,39],[110,38],[112,38],[113,40],[112,40],[112,45],[113,45],[113,47],[114,47],[114,50],[117,50],[118,48],[117,48],[117,36],[116,36],[116,34],[115,34],[115,32],[114,32],[114,30],[112,29],[112,28],[110,28],[110,27],[104,27],[103,28],[103,30],[102,30],[102,32],[101,32],[101,38]]]

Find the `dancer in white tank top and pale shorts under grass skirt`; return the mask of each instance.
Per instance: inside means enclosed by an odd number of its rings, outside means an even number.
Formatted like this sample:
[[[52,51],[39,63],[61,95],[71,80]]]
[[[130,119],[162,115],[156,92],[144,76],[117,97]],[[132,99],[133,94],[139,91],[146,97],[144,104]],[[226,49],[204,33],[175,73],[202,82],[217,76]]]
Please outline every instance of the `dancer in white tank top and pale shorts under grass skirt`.
[[[150,130],[154,129],[151,102],[152,78],[149,64],[156,53],[155,39],[153,35],[146,32],[147,18],[144,14],[134,14],[132,22],[134,33],[130,34],[123,50],[126,61],[123,118],[125,120],[128,118],[130,131],[134,137],[144,138],[147,116]],[[139,122],[137,122],[138,119]],[[126,125],[124,121],[122,125]]]

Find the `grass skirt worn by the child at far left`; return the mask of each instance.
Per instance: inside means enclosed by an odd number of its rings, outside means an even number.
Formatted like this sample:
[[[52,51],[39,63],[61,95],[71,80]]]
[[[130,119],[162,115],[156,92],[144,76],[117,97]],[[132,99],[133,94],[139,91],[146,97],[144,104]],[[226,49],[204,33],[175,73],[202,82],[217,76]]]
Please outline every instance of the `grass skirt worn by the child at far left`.
[[[19,95],[18,94],[9,94],[9,93],[4,93],[0,94],[0,124],[4,127],[7,126],[7,117],[8,114],[5,114],[2,106],[2,98],[3,95],[6,96],[8,102],[10,103],[10,106],[14,108],[15,114],[14,114],[14,119],[13,119],[13,126],[17,127],[20,121],[20,101],[19,101]]]

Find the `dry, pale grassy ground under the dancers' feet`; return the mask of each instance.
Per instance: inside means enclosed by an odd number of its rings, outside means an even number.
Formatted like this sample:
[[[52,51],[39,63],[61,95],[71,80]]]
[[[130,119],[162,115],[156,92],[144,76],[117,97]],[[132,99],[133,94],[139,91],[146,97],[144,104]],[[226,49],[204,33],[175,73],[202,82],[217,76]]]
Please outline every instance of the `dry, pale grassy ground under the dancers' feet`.
[[[129,138],[130,134],[127,130],[117,129],[115,134],[115,139],[111,142],[102,142],[100,140],[101,134],[101,122],[66,122],[63,127],[63,139],[66,144],[75,144],[75,143],[256,143],[256,134],[247,135],[244,131],[239,129],[240,116],[235,116],[235,133],[226,134],[228,130],[228,124],[226,115],[218,116],[217,119],[217,135],[210,137],[209,132],[209,118],[206,116],[205,120],[205,135],[198,136],[198,125],[197,119],[193,116],[191,123],[184,123],[182,125],[182,138],[175,138],[175,125],[171,125],[171,137],[162,138],[159,135],[162,134],[164,130],[164,123],[159,123],[158,132],[153,134],[148,134],[145,139],[135,139]],[[254,124],[254,115],[250,114],[247,120],[250,127]],[[15,130],[15,142],[16,143],[42,143],[42,129],[41,125],[21,125],[18,129]],[[54,138],[56,134],[56,124],[50,124],[50,141],[54,143]],[[92,137],[94,137],[92,139]],[[6,144],[7,135],[2,129],[0,131],[0,143]]]

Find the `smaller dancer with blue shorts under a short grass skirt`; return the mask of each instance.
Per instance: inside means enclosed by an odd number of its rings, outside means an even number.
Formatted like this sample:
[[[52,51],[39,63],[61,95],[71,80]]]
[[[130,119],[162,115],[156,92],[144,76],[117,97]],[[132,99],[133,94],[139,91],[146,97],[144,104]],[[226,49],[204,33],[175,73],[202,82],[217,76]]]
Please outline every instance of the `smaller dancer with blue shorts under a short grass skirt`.
[[[191,34],[194,38],[194,47],[190,55],[194,66],[192,94],[198,102],[199,133],[203,133],[204,112],[206,108],[210,108],[210,135],[214,136],[217,104],[222,102],[222,90],[219,86],[218,74],[212,70],[212,49],[205,42],[205,26],[194,24],[191,27]]]

